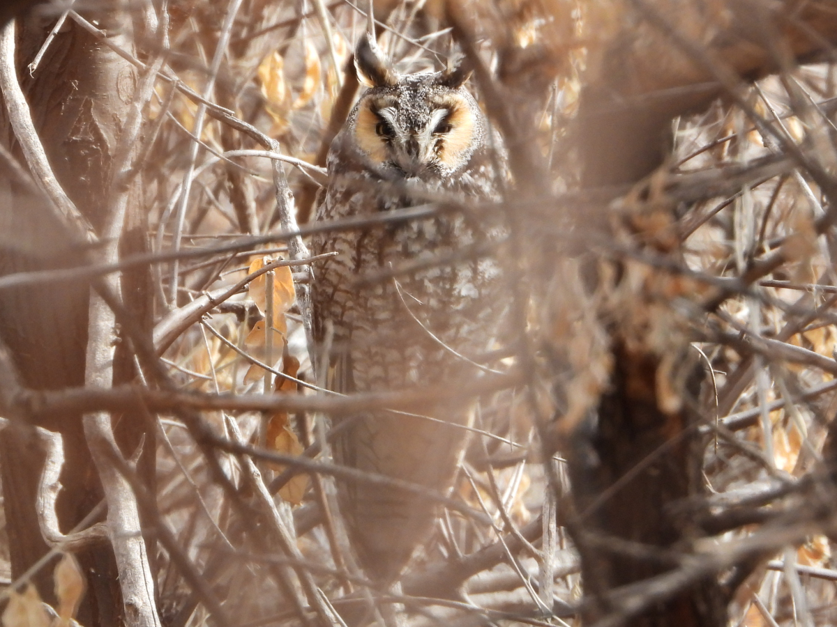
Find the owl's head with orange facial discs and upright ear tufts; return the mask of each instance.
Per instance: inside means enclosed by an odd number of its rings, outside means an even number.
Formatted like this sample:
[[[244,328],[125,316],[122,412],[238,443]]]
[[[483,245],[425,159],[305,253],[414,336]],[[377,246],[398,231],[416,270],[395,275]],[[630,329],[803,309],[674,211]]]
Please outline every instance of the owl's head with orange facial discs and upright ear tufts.
[[[349,120],[354,145],[383,176],[421,180],[452,176],[485,145],[485,119],[463,88],[462,64],[442,72],[400,75],[367,37],[355,53],[368,89]]]

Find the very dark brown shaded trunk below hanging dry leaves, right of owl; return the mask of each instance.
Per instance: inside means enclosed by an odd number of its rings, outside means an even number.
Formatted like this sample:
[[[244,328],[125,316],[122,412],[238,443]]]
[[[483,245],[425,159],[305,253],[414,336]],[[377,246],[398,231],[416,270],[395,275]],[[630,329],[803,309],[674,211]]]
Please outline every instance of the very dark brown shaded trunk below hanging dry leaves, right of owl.
[[[660,359],[626,349],[619,338],[614,341],[611,389],[598,406],[596,429],[588,441],[597,463],[569,456],[573,493],[583,517],[580,527],[586,538],[595,539],[580,543],[583,578],[593,599],[583,614],[589,623],[619,610],[597,599],[597,593],[676,568],[679,564],[665,553],[676,552],[681,541],[702,535],[670,507],[703,492],[702,438],[690,429],[696,416],[688,410],[660,410],[656,390]],[[683,390],[691,400],[686,406],[694,406],[700,370],[691,379]],[[634,543],[639,551],[629,553],[619,541]],[[713,574],[624,624],[720,627],[727,622],[727,600]]]

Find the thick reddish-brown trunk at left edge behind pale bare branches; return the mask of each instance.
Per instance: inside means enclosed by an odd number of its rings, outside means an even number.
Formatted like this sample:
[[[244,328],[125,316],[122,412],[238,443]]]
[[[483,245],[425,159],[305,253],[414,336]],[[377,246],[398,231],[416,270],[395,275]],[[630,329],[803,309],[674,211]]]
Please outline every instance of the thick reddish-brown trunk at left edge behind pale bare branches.
[[[113,17],[114,23],[106,23],[108,16],[99,14],[97,18],[101,28],[123,33],[116,35],[117,43],[131,49],[130,23],[122,23],[126,16]],[[33,78],[25,68],[51,24],[35,15],[18,24],[18,77],[55,175],[96,232],[101,232],[109,211],[107,191],[114,174],[116,144],[135,97],[136,70],[90,33],[69,21],[67,24],[49,46]],[[5,119],[4,125],[7,145],[23,161]],[[32,221],[37,217],[49,223],[49,218],[41,215],[45,213],[43,206],[38,201],[31,201],[33,207],[26,206],[27,199],[21,192],[9,181],[3,183],[9,201],[0,206],[0,212],[5,214],[2,223],[13,225],[24,236],[40,233]],[[137,186],[138,181],[133,184]],[[135,191],[126,217],[122,254],[145,249],[146,217],[141,213],[138,199]],[[80,263],[82,254],[68,250],[66,237],[61,233],[54,226],[34,241],[29,237],[4,238],[0,242],[0,273]],[[145,271],[127,273],[122,290],[129,310],[150,329],[151,291]],[[25,385],[59,389],[84,384],[89,293],[90,287],[84,282],[50,283],[0,293],[0,336],[12,350]],[[115,358],[116,382],[134,376],[131,354],[121,345]],[[150,439],[143,449],[145,460],[141,462],[141,470],[146,477],[153,477],[153,431],[148,430],[141,412],[115,415],[114,420],[117,439],[126,456],[136,450],[142,434],[148,433]],[[62,531],[66,533],[100,502],[100,482],[90,459],[80,415],[64,415],[44,421],[40,426],[58,431],[64,439],[66,462],[61,476],[64,490],[58,508]],[[42,460],[32,451],[28,434],[12,430],[3,434],[0,463],[15,577],[46,551],[34,512],[34,489]],[[120,624],[121,592],[112,550],[109,546],[90,549],[79,557],[89,585],[78,619],[90,627]],[[39,584],[39,592],[50,599],[51,576],[41,577]]]

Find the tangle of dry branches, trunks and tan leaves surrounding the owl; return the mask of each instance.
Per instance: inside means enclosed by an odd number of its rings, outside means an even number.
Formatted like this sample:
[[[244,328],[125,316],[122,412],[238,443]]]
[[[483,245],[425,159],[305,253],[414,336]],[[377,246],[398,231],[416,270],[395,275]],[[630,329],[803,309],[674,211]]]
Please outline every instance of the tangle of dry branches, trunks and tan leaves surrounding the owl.
[[[310,217],[365,3],[77,4],[0,49],[3,624],[834,623],[837,3],[376,3],[474,67],[513,183],[423,211],[496,215],[514,315],[490,375],[350,396],[306,237],[362,226]],[[478,421],[378,589],[328,418],[430,397]]]

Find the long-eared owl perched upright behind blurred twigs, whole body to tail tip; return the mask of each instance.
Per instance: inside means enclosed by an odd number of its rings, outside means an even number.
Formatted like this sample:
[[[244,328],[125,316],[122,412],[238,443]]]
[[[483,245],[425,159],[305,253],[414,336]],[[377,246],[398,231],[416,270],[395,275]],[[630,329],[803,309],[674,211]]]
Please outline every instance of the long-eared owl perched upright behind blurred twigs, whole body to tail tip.
[[[398,74],[370,38],[355,63],[367,89],[336,135],[316,220],[380,217],[372,226],[321,232],[312,252],[336,251],[311,288],[315,339],[329,386],[341,393],[449,385],[478,363],[505,315],[502,276],[486,256],[501,227],[486,225],[506,182],[501,141],[463,86],[460,64]],[[444,211],[453,204],[462,211]],[[387,222],[388,212],[436,203],[433,217]],[[421,415],[374,410],[336,417],[337,463],[449,492],[465,449],[473,401],[424,404]],[[465,427],[465,428],[464,428]],[[392,583],[432,531],[433,502],[396,487],[337,482],[354,553]]]

